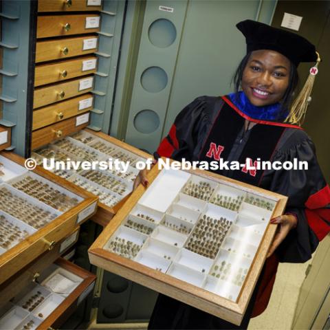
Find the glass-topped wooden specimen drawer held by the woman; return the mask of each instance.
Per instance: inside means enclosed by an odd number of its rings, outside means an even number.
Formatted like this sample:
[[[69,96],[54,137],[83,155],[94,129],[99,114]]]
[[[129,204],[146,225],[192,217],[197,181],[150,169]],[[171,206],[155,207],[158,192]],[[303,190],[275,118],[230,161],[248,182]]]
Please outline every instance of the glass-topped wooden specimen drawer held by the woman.
[[[148,176],[91,245],[91,263],[239,325],[287,197],[201,170]]]

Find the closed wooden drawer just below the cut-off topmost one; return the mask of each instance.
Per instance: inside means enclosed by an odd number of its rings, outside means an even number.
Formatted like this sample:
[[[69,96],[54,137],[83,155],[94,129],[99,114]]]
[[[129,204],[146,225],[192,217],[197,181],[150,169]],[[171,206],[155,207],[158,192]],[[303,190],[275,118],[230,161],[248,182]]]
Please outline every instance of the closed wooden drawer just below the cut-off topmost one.
[[[69,36],[98,32],[100,30],[100,15],[54,15],[39,16],[37,19],[36,38],[50,36]]]

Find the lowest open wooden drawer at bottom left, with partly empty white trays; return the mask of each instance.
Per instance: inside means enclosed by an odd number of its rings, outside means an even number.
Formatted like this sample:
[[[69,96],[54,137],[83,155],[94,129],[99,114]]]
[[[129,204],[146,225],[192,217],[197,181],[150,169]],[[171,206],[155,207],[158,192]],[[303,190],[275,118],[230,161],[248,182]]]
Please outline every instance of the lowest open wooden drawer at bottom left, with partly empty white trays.
[[[94,289],[96,276],[65,259],[43,270],[0,310],[0,329],[58,328]]]

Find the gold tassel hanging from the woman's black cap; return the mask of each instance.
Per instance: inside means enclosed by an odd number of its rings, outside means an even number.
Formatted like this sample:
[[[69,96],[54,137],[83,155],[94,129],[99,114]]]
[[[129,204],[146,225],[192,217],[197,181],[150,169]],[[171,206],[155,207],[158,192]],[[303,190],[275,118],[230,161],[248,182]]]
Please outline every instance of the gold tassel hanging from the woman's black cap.
[[[316,52],[316,54],[318,55],[316,65],[314,65],[314,67],[311,67],[306,83],[303,89],[300,91],[299,95],[297,96],[296,100],[294,100],[291,111],[285,119],[285,122],[289,122],[290,124],[298,124],[300,126],[305,120],[305,115],[311,96],[311,90],[313,89],[315,76],[318,72],[318,63],[320,63],[321,61],[320,54],[318,54],[318,52]]]

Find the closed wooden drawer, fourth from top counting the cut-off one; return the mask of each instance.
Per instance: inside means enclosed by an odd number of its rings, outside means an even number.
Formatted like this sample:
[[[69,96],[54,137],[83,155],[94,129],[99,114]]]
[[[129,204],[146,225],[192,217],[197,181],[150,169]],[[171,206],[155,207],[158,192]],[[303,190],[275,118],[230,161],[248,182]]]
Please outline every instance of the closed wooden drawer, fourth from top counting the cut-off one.
[[[86,74],[94,74],[96,72],[97,61],[98,58],[96,56],[84,56],[75,58],[74,60],[36,65],[34,86],[38,87],[85,76]]]

